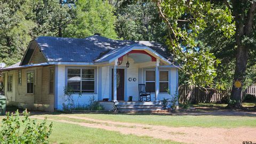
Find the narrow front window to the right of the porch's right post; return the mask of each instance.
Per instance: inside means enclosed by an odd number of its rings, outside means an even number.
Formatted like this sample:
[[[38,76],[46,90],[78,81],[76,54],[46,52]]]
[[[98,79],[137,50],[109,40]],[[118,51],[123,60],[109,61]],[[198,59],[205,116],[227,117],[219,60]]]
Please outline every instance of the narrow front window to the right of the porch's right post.
[[[169,85],[168,71],[159,71],[159,92],[167,92]]]

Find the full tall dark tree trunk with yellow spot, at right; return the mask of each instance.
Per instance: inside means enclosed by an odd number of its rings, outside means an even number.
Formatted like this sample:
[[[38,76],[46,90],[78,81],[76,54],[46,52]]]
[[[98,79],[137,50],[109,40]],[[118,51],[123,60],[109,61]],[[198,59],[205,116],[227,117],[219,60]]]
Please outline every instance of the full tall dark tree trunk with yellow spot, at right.
[[[237,55],[236,55],[236,68],[234,81],[231,91],[231,100],[235,100],[235,103],[229,103],[228,107],[242,107],[242,87],[244,82],[244,76],[246,71],[246,65],[248,61],[248,45],[243,43],[242,39],[244,36],[250,36],[252,32],[252,26],[254,24],[253,19],[255,15],[256,2],[250,2],[250,7],[247,10],[247,14],[244,15],[246,8],[241,6],[241,3],[246,4],[246,1],[233,1],[233,14],[236,21],[236,44],[237,44]],[[236,87],[235,82],[242,83],[241,87]]]

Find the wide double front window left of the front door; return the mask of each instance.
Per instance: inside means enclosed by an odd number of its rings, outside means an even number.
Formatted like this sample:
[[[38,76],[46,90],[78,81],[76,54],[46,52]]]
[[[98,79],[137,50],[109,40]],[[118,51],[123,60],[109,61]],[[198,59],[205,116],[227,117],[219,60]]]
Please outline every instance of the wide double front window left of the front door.
[[[68,69],[68,86],[74,92],[94,93],[94,69]]]

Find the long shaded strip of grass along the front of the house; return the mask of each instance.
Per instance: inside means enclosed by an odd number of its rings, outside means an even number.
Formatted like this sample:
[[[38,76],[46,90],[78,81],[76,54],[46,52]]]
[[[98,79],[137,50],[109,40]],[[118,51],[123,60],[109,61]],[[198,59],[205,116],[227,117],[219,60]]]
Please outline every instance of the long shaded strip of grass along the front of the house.
[[[195,109],[191,109],[191,107]],[[19,110],[22,114],[23,109],[14,106],[7,106],[6,111],[11,113]],[[244,107],[243,109],[227,109],[226,105],[215,103],[199,103],[191,105],[188,109],[179,109],[177,111],[156,113],[156,112],[133,112],[133,113],[115,113],[114,111],[80,111],[70,113],[69,111],[45,112],[38,110],[28,110],[30,115],[61,115],[61,114],[105,114],[105,115],[171,115],[171,116],[249,116],[256,117],[256,107]]]

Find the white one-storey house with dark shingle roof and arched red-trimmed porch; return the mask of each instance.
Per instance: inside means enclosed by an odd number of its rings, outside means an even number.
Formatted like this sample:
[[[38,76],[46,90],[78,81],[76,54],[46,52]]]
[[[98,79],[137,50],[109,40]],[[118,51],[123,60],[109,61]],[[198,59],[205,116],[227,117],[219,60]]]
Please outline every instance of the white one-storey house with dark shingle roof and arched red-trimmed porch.
[[[120,41],[99,34],[86,38],[43,36],[29,43],[21,62],[1,71],[9,105],[62,110],[63,90],[70,86],[75,101],[82,92],[79,105],[87,105],[94,97],[111,109],[113,103],[121,105],[130,96],[139,101],[139,84],[146,84],[153,102],[174,95],[178,68],[170,59],[166,49],[155,42]]]

